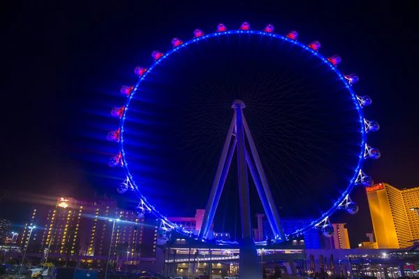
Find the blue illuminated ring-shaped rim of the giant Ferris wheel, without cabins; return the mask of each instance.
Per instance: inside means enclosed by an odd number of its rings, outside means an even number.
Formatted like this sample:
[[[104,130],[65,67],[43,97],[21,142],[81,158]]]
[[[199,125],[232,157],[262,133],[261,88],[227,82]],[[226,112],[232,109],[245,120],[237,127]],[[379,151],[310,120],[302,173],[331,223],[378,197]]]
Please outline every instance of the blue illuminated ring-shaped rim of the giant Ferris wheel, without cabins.
[[[332,71],[332,73],[335,74],[335,76],[339,79],[338,82],[341,83],[341,85],[344,86],[344,88],[346,89],[346,92],[348,92],[348,96],[350,96],[351,101],[353,103],[353,108],[356,110],[356,113],[358,114],[358,124],[357,125],[358,125],[358,132],[359,132],[359,135],[360,135],[359,143],[357,143],[358,150],[359,150],[359,152],[358,152],[358,162],[357,162],[356,166],[353,166],[353,168],[352,168],[353,169],[352,176],[347,177],[348,185],[346,185],[345,189],[343,191],[341,191],[341,194],[334,201],[334,203],[332,204],[330,209],[325,210],[317,218],[311,218],[310,224],[304,225],[304,227],[301,227],[301,228],[297,229],[296,231],[291,232],[289,235],[302,234],[304,231],[307,231],[308,229],[311,229],[311,228],[315,227],[317,224],[321,224],[321,222],[323,222],[325,220],[325,218],[329,217],[335,210],[337,210],[339,208],[339,206],[341,206],[341,203],[343,203],[345,201],[348,194],[352,191],[353,187],[355,187],[356,182],[358,182],[358,180],[360,178],[360,172],[362,172],[361,167],[362,167],[362,164],[363,164],[364,159],[365,159],[365,149],[367,148],[367,144],[366,144],[367,127],[365,125],[365,119],[364,119],[364,115],[362,113],[362,103],[360,103],[358,96],[355,95],[355,92],[353,92],[351,84],[348,83],[348,81],[346,80],[344,75],[342,73],[340,73],[340,71],[337,69],[337,67],[334,66],[331,62],[329,62],[327,58],[323,57],[321,54],[319,54],[315,50],[309,48],[307,45],[304,45],[303,43],[295,41],[291,38],[287,38],[286,36],[281,36],[279,34],[273,34],[273,33],[266,32],[266,31],[252,31],[252,30],[220,31],[220,32],[212,33],[212,34],[205,34],[203,36],[199,36],[198,38],[193,38],[190,41],[186,41],[186,42],[176,46],[175,48],[173,48],[169,52],[163,54],[159,59],[157,59],[152,64],[152,66],[149,66],[147,71],[142,73],[142,76],[140,76],[138,82],[134,85],[133,90],[131,91],[131,94],[129,94],[128,98],[126,99],[126,103],[125,103],[125,106],[124,106],[124,110],[122,110],[121,120],[120,120],[120,124],[119,124],[119,129],[120,129],[119,149],[120,149],[120,155],[121,155],[120,159],[121,159],[121,162],[122,162],[122,166],[123,166],[124,171],[126,173],[126,178],[127,178],[128,183],[130,184],[131,187],[133,187],[133,190],[135,191],[135,194],[138,195],[141,203],[144,204],[144,207],[147,208],[147,210],[149,212],[156,215],[156,217],[158,217],[163,222],[163,226],[170,227],[171,229],[174,229],[175,231],[178,231],[179,233],[184,234],[186,236],[193,236],[191,231],[186,231],[182,227],[178,227],[177,224],[174,224],[174,223],[170,222],[166,216],[159,213],[159,210],[157,208],[155,208],[154,206],[152,206],[152,203],[150,203],[147,200],[147,198],[142,194],[142,191],[140,190],[139,185],[137,185],[137,183],[135,182],[135,178],[130,171],[130,162],[129,162],[129,159],[128,159],[129,155],[126,153],[126,147],[124,145],[124,127],[126,127],[127,113],[131,109],[130,104],[131,104],[131,101],[133,100],[135,94],[138,94],[140,92],[142,83],[145,80],[147,80],[147,77],[150,75],[150,73],[152,73],[156,69],[156,67],[158,67],[160,64],[162,64],[165,59],[170,59],[171,55],[173,55],[175,53],[180,53],[183,50],[186,50],[189,45],[203,43],[210,38],[214,38],[214,39],[217,38],[217,37],[218,38],[222,38],[222,37],[227,37],[228,38],[228,36],[237,36],[237,34],[239,34],[239,36],[249,35],[249,38],[250,38],[250,36],[258,36],[260,38],[270,38],[270,40],[278,40],[278,41],[281,42],[281,45],[286,44],[288,46],[288,48],[297,47],[301,50],[302,53],[307,52],[310,55],[310,57],[313,57],[313,59],[317,59],[318,61],[323,63],[325,66],[330,67],[330,71]],[[246,111],[245,111],[245,113],[246,113]]]

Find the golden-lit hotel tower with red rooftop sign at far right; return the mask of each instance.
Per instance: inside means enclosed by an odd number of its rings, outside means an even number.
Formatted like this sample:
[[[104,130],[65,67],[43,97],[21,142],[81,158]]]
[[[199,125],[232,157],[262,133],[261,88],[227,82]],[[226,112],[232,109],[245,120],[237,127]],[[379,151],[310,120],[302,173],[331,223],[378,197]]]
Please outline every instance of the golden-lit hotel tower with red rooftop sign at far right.
[[[397,189],[387,183],[367,187],[378,248],[406,248],[419,238],[419,187]]]

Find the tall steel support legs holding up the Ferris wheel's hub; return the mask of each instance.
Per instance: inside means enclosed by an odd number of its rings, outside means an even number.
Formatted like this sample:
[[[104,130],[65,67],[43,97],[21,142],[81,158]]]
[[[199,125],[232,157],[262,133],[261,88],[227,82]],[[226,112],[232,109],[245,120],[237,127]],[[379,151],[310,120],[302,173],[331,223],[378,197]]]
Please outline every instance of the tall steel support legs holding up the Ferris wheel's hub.
[[[235,110],[233,120],[228,129],[226,142],[221,152],[221,158],[216,170],[214,183],[212,184],[210,199],[208,199],[207,207],[205,208],[203,224],[200,228],[198,239],[203,240],[210,231],[210,226],[214,221],[216,208],[221,198],[221,192],[223,192],[224,183],[226,183],[234,152],[237,151],[240,216],[242,223],[242,242],[240,243],[239,262],[240,279],[258,279],[262,278],[262,275],[260,273],[256,245],[252,236],[247,168],[249,168],[253,182],[256,185],[260,201],[262,202],[263,209],[265,210],[267,220],[270,223],[275,238],[278,241],[285,241],[286,239],[274,199],[272,198],[272,193],[270,192],[270,187],[267,184],[262,163],[260,162],[258,150],[256,150],[256,145],[253,142],[253,137],[251,136],[249,126],[243,114],[243,108],[245,107],[243,101],[236,100],[233,103],[232,108]],[[246,147],[246,139],[249,143],[250,153]]]

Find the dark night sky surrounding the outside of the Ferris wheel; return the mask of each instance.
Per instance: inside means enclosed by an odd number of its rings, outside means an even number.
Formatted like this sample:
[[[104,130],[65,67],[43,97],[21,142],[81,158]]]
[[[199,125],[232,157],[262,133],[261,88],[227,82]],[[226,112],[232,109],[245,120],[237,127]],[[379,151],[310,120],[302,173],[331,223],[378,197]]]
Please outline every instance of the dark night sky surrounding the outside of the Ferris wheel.
[[[419,30],[413,3],[114,3],[15,1],[6,10],[10,27],[3,45],[9,49],[3,57],[11,74],[10,87],[2,90],[0,217],[21,224],[28,202],[45,203],[47,196],[118,197],[115,180],[104,174],[106,160],[92,159],[100,151],[89,133],[104,125],[97,115],[117,105],[109,95],[135,79],[134,66],[152,63],[152,50],[170,49],[179,33],[186,40],[197,27],[211,33],[219,22],[235,29],[244,20],[260,29],[272,23],[280,34],[296,29],[304,42],[318,39],[339,53],[360,76],[358,88],[372,96],[369,115],[381,124],[369,143],[382,156],[365,172],[376,182],[418,186]],[[356,188],[351,197],[359,213],[338,213],[332,221],[348,223],[355,247],[367,240],[372,224],[365,191]]]

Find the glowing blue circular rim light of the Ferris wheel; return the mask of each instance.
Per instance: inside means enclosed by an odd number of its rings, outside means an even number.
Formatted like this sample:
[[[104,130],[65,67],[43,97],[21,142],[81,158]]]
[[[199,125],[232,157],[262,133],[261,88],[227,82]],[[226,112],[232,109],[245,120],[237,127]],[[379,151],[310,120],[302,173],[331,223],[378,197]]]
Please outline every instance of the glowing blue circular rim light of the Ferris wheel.
[[[277,38],[279,40],[282,41],[286,41],[286,42],[292,42],[294,45],[299,46],[300,48],[302,48],[303,51],[309,51],[311,52],[311,55],[316,55],[316,57],[318,57],[319,59],[323,60],[324,63],[328,63],[330,66],[330,69],[332,69],[337,76],[339,76],[340,80],[342,81],[342,83],[344,83],[346,85],[346,88],[348,89],[348,91],[350,92],[352,99],[355,103],[355,107],[358,111],[358,114],[360,116],[360,124],[361,124],[361,136],[362,136],[362,140],[361,140],[361,150],[360,150],[360,156],[359,156],[359,161],[358,161],[358,166],[355,168],[355,173],[353,175],[353,178],[351,178],[350,183],[348,185],[348,187],[346,188],[346,190],[341,194],[341,196],[339,197],[339,199],[335,202],[334,206],[332,206],[332,208],[330,208],[330,210],[328,210],[327,212],[323,213],[321,215],[321,217],[319,217],[318,219],[314,220],[311,222],[311,224],[302,227],[301,229],[298,229],[297,231],[293,232],[290,235],[296,235],[296,234],[302,234],[304,233],[304,231],[307,231],[308,229],[313,228],[316,224],[319,224],[321,222],[323,222],[327,217],[329,217],[330,215],[332,215],[332,213],[337,210],[337,208],[339,207],[339,204],[344,201],[344,199],[346,198],[346,196],[352,191],[353,187],[355,187],[355,183],[354,181],[358,178],[358,175],[360,173],[360,169],[362,167],[362,164],[364,162],[364,152],[365,152],[365,148],[366,148],[366,143],[367,143],[367,132],[365,129],[365,120],[364,120],[364,115],[362,113],[362,109],[360,106],[360,103],[357,101],[356,99],[356,95],[355,92],[353,92],[352,87],[350,86],[350,84],[348,83],[348,81],[346,81],[346,79],[344,79],[344,76],[337,70],[337,68],[335,66],[333,66],[333,64],[331,62],[328,62],[327,59],[325,59],[325,57],[323,57],[323,55],[320,55],[318,52],[316,52],[315,50],[308,48],[307,45],[304,45],[298,41],[292,40],[287,38],[286,36],[282,36],[279,34],[272,34],[270,32],[265,32],[265,31],[252,31],[252,30],[229,30],[229,31],[221,31],[221,32],[215,32],[212,34],[206,34],[204,36],[200,36],[198,38],[193,38],[190,41],[186,41],[186,43],[182,43],[181,45],[178,45],[176,48],[172,48],[172,50],[166,52],[165,55],[163,55],[163,57],[160,57],[159,59],[157,59],[152,66],[150,66],[147,71],[141,76],[141,78],[139,78],[138,82],[135,84],[134,89],[131,93],[130,96],[128,96],[128,99],[126,100],[125,103],[125,108],[128,108],[129,103],[131,102],[131,99],[133,99],[133,96],[135,95],[135,93],[138,90],[138,87],[140,86],[140,83],[142,83],[142,81],[145,79],[145,77],[147,76],[148,73],[150,73],[152,71],[152,69],[154,68],[154,66],[156,66],[157,64],[159,64],[159,62],[161,62],[162,59],[166,59],[168,58],[170,55],[172,55],[173,52],[177,52],[180,48],[185,48],[186,45],[188,45],[189,43],[193,43],[193,42],[198,42],[198,41],[203,41],[203,39],[207,39],[210,37],[214,37],[214,36],[223,36],[223,35],[228,35],[228,34],[260,34],[262,36],[270,36],[273,38]],[[202,38],[202,39],[201,39]],[[125,157],[125,151],[124,151],[124,122],[126,119],[126,111],[128,109],[124,110],[124,113],[121,117],[121,120],[119,122],[119,128],[121,129],[121,134],[120,134],[120,141],[119,141],[119,149],[121,151],[122,154],[122,162],[123,162],[123,168],[124,171],[126,173],[126,177],[130,180],[131,185],[133,185],[134,189],[135,189],[135,194],[138,195],[138,198],[141,199],[144,203],[145,206],[147,206],[147,208],[149,208],[152,213],[154,215],[156,215],[156,217],[158,217],[163,223],[167,224],[169,227],[173,227],[175,229],[175,231],[179,232],[180,234],[184,234],[185,236],[192,236],[190,231],[186,231],[184,228],[182,227],[178,227],[176,224],[168,221],[168,219],[161,215],[161,213],[159,213],[158,210],[156,210],[154,208],[154,206],[152,206],[149,201],[147,201],[147,199],[145,199],[145,196],[143,196],[140,192],[140,189],[138,189],[138,186],[135,184],[135,180],[133,178],[133,176],[131,175],[128,167],[127,167],[127,162],[126,162],[126,157]]]

